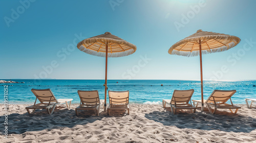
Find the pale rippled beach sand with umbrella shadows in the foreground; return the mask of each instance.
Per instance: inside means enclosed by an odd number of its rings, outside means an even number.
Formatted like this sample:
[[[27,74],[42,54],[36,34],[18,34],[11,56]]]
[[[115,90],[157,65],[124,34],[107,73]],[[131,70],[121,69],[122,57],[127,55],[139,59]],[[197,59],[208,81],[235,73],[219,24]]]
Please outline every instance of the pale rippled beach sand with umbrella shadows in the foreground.
[[[53,115],[46,110],[28,115],[26,106],[9,105],[9,135],[5,139],[1,132],[0,142],[256,142],[256,108],[245,105],[236,115],[229,110],[172,115],[161,105],[131,104],[130,115],[107,116],[101,108],[100,116],[83,112],[78,117],[74,110],[78,104],[70,109],[61,105]]]

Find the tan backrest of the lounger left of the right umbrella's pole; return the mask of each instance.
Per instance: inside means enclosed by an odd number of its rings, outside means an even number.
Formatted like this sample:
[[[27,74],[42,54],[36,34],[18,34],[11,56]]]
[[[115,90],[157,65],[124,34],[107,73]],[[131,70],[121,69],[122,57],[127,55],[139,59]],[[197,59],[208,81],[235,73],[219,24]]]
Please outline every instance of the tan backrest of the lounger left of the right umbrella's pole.
[[[192,95],[194,93],[194,90],[191,89],[191,90],[174,90],[174,94],[173,94],[173,97],[172,97],[172,100],[171,100],[171,104],[179,104],[179,105],[182,105],[182,104],[187,104]]]

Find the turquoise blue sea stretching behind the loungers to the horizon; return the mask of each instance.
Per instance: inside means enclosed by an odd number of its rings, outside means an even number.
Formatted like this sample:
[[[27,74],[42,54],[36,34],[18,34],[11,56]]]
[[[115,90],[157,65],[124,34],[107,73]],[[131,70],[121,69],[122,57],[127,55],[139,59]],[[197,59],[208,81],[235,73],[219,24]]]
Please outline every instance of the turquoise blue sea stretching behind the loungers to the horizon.
[[[3,95],[1,104],[4,103],[4,85],[8,85],[9,104],[33,104],[35,96],[31,89],[51,89],[57,99],[73,98],[72,103],[80,102],[77,90],[98,90],[100,99],[104,99],[104,80],[12,79],[12,81],[25,83],[1,83],[0,93]],[[234,104],[245,104],[245,98],[256,98],[256,87],[253,87],[256,85],[256,80],[204,81],[203,84],[205,99],[214,90],[237,90],[231,98]],[[161,104],[162,99],[172,97],[174,90],[194,89],[191,99],[201,99],[200,81],[108,80],[108,88],[111,91],[130,91],[130,103],[138,104]]]

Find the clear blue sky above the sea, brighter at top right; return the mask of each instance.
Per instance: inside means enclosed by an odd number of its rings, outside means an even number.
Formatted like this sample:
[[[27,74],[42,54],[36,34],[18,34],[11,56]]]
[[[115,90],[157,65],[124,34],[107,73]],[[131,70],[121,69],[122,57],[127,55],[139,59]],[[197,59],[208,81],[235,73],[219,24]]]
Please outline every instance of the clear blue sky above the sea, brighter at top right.
[[[200,80],[199,56],[187,58],[167,52],[199,29],[241,39],[230,50],[203,55],[204,80],[256,79],[256,1],[199,3],[1,1],[0,79],[104,79],[104,58],[74,46],[81,37],[111,32],[135,44],[137,51],[110,58],[108,79]],[[150,60],[143,61],[145,56]]]

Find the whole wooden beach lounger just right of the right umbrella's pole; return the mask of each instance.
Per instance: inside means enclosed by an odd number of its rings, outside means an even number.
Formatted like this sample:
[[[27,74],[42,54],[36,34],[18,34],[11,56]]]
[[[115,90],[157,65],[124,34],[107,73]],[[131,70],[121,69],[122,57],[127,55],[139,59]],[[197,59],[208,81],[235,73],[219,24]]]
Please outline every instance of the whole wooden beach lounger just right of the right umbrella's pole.
[[[209,98],[207,100],[204,100],[204,103],[206,104],[207,108],[209,109],[209,112],[211,114],[215,114],[217,109],[229,109],[232,113],[237,113],[238,109],[240,109],[240,106],[233,105],[231,96],[236,93],[236,90],[231,91],[224,91],[224,90],[214,90],[214,92],[211,93]],[[227,104],[226,102],[230,100],[231,104]],[[202,103],[201,100],[192,100],[193,104]],[[212,109],[211,107],[214,107]],[[234,112],[232,109],[236,109]],[[211,110],[214,110],[213,112]]]

